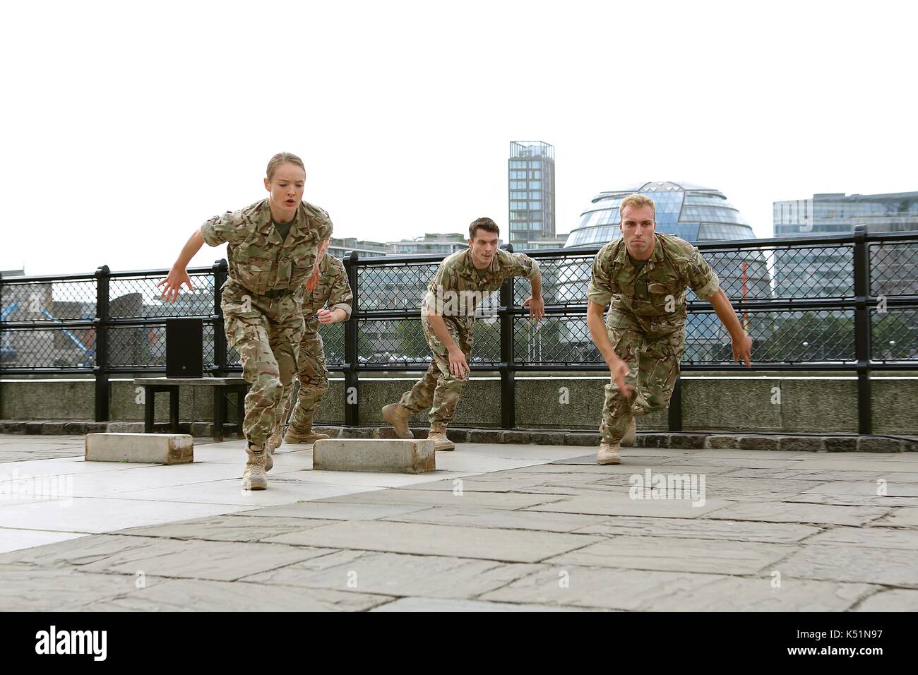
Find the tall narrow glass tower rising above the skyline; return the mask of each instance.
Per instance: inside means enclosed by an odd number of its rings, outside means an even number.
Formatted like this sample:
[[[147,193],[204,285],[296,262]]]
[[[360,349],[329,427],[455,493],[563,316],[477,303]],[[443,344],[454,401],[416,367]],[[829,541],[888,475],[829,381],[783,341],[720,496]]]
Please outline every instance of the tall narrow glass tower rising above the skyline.
[[[510,141],[509,242],[517,251],[554,242],[554,145]]]

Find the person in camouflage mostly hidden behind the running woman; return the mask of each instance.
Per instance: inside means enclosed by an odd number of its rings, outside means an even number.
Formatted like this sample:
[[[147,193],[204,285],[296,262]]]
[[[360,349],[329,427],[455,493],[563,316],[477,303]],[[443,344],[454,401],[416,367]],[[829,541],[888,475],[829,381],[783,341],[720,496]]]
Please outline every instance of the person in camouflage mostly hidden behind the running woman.
[[[347,321],[351,316],[353,294],[344,264],[335,256],[325,253],[328,246],[329,242],[323,242],[319,250],[319,285],[303,299],[306,330],[299,343],[297,359],[299,393],[290,417],[290,426],[284,436],[287,443],[313,443],[329,437],[326,433],[312,431],[313,417],[319,410],[322,396],[329,388],[329,371],[325,367],[325,349],[322,336],[319,335],[319,324]],[[328,309],[323,309],[326,303]],[[292,399],[292,396],[288,399],[287,409]],[[280,426],[276,433],[279,436]]]

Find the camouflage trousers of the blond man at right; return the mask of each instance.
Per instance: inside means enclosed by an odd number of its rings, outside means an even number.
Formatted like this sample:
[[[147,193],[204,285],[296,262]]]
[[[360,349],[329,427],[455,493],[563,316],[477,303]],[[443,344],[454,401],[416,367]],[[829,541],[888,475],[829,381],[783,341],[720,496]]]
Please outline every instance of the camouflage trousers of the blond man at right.
[[[599,434],[603,441],[621,442],[632,417],[665,411],[679,376],[685,348],[685,319],[638,317],[614,309],[606,321],[612,348],[630,370],[625,384],[631,385],[631,399],[610,378],[602,406]]]

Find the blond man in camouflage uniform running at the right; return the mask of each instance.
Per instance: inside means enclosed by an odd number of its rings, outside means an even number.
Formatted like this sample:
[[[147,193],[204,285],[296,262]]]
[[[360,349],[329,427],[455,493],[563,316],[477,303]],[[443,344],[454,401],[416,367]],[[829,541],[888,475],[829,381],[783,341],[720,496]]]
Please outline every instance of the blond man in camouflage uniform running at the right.
[[[620,213],[622,236],[597,253],[587,291],[588,327],[612,375],[599,425],[599,464],[619,464],[621,444],[634,441],[634,418],[669,404],[685,344],[687,286],[713,305],[732,337],[734,360],[751,366],[752,342],[699,250],[655,231],[650,197],[625,197]]]

